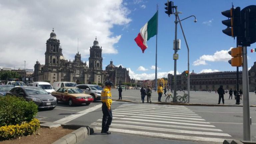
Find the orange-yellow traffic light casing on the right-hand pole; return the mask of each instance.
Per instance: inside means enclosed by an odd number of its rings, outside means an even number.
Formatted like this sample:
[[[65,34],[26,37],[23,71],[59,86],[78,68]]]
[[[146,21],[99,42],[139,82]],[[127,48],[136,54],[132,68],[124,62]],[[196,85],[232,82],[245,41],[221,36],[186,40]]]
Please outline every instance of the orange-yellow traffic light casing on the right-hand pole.
[[[228,52],[231,57],[233,57],[231,60],[228,61],[229,64],[231,64],[232,67],[241,67],[242,66],[242,50],[243,47],[237,47],[231,49],[231,51]]]

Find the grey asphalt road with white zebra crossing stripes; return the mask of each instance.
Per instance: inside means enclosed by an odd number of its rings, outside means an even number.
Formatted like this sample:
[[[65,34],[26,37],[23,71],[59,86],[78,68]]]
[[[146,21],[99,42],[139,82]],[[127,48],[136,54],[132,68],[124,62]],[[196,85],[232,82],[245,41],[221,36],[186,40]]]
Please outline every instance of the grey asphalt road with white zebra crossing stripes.
[[[128,90],[129,91],[129,90]],[[115,97],[115,95],[113,96]],[[128,107],[126,107],[128,105]],[[124,107],[125,106],[125,107]],[[132,106],[132,107],[129,107]],[[151,108],[152,107],[152,108]],[[155,112],[150,112],[149,110],[156,110]],[[128,102],[121,102],[121,101],[114,101],[112,105],[112,110],[114,114],[114,118],[116,118],[116,122],[112,122],[111,128],[113,128],[113,136],[118,137],[126,137],[125,139],[129,143],[129,137],[134,135],[134,132],[137,131],[144,131],[147,133],[138,133],[135,134],[137,139],[144,140],[151,140],[153,143],[154,141],[158,142],[158,138],[163,140],[163,143],[173,142],[167,139],[176,139],[179,137],[179,140],[186,140],[190,141],[192,137],[203,137],[203,138],[219,138],[219,139],[243,139],[243,118],[242,118],[242,107],[215,107],[215,106],[172,106],[172,105],[159,105],[159,104],[139,104],[139,103],[128,103]],[[256,107],[250,107],[250,114],[252,117],[252,125],[251,125],[251,134],[252,140],[256,141]],[[149,114],[148,116],[146,116]],[[143,116],[145,115],[145,116]],[[192,116],[192,117],[191,117]],[[39,111],[37,116],[41,121],[48,121],[48,122],[60,122],[63,124],[75,124],[75,125],[89,125],[91,127],[99,127],[101,125],[102,119],[102,111],[101,111],[101,102],[93,102],[89,106],[86,105],[78,105],[70,107],[66,103],[59,103],[54,110],[44,110]],[[195,117],[195,120],[194,120]],[[197,120],[200,117],[199,120]],[[118,122],[118,120],[123,120],[120,118],[128,119],[126,123]],[[192,118],[192,119],[191,119]],[[129,120],[130,119],[130,120]],[[204,119],[205,122],[201,122],[200,119]],[[114,119],[115,120],[115,119]],[[160,126],[157,126],[159,123]],[[166,126],[167,123],[171,122],[169,127]],[[143,124],[136,124],[138,122],[142,122]],[[181,124],[176,124],[176,122]],[[127,124],[128,123],[128,124]],[[129,124],[135,123],[135,124]],[[152,127],[152,123],[153,126]],[[227,136],[211,136],[208,134],[207,130],[198,130],[204,128],[204,123],[207,125],[212,125],[214,129],[221,130],[223,135]],[[120,125],[121,124],[121,125]],[[146,124],[150,124],[147,126]],[[161,124],[165,124],[164,127]],[[199,124],[197,126],[197,124]],[[203,124],[203,125],[200,125]],[[129,126],[133,125],[133,127]],[[134,126],[135,125],[135,126]],[[138,126],[143,126],[139,128]],[[192,125],[192,126],[189,126]],[[120,128],[121,126],[121,128]],[[176,128],[179,126],[186,126],[184,128]],[[187,129],[189,126],[189,129]],[[150,127],[150,129],[148,128]],[[172,128],[174,127],[174,128]],[[161,132],[164,131],[164,128],[171,129],[171,134],[169,132]],[[211,128],[211,127],[210,127]],[[142,130],[141,130],[142,129]],[[156,129],[156,130],[153,130]],[[120,131],[122,130],[122,131]],[[125,130],[125,131],[123,131]],[[179,131],[184,130],[184,131]],[[167,130],[169,131],[169,130]],[[178,131],[178,132],[175,132]],[[192,131],[192,134],[191,132]],[[193,131],[198,132],[202,131],[203,135],[197,134],[194,135]],[[99,137],[99,139],[106,137],[106,135],[97,134],[99,130],[95,129],[95,133]],[[155,136],[150,136],[150,133],[157,133]],[[183,132],[188,134],[182,134]],[[164,133],[166,136],[163,137],[162,134],[157,136],[158,134]],[[219,133],[219,132],[217,132]],[[204,134],[208,134],[209,136],[205,136]],[[138,136],[140,135],[140,136]],[[230,136],[228,136],[230,135]],[[174,137],[173,137],[174,136]],[[154,138],[149,138],[154,137]],[[184,137],[184,139],[183,139]],[[120,139],[117,139],[120,141]],[[99,140],[98,140],[99,141]],[[197,141],[197,140],[191,140]],[[209,140],[210,141],[210,140]],[[182,143],[180,141],[175,141],[175,143]],[[193,142],[192,142],[193,143]],[[192,144],[191,143],[191,144]],[[198,142],[201,143],[201,142]]]

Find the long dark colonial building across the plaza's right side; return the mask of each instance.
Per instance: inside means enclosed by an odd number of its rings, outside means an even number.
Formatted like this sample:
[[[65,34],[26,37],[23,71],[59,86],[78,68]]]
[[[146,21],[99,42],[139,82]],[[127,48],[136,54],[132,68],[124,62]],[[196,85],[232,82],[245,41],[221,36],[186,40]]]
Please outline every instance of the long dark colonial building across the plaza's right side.
[[[256,90],[256,62],[249,70],[249,90]],[[239,72],[239,89],[243,88],[242,85],[242,71]],[[236,71],[232,72],[209,72],[209,73],[194,73],[190,74],[190,89],[191,90],[217,90],[220,85],[224,89],[236,89],[237,84]],[[168,84],[173,88],[174,75],[168,74]],[[187,89],[187,76],[185,71],[177,75],[177,89]]]

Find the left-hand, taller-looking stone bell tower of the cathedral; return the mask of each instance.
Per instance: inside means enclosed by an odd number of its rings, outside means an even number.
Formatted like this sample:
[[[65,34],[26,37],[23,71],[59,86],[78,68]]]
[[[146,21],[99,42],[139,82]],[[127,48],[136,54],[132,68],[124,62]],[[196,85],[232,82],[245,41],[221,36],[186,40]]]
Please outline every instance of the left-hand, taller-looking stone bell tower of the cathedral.
[[[50,34],[50,38],[46,41],[45,65],[57,66],[60,64],[60,56],[63,56],[60,47],[60,40],[56,38],[54,30]]]

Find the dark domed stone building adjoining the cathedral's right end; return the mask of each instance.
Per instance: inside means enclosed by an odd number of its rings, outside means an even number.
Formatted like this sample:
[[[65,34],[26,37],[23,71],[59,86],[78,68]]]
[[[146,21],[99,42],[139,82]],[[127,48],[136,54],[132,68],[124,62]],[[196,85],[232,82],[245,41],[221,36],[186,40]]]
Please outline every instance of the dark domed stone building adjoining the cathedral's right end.
[[[131,82],[129,71],[122,66],[116,67],[113,65],[113,61],[110,61],[110,64],[106,67],[106,71],[108,73],[108,79],[113,81],[115,85],[123,82]]]

